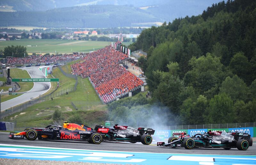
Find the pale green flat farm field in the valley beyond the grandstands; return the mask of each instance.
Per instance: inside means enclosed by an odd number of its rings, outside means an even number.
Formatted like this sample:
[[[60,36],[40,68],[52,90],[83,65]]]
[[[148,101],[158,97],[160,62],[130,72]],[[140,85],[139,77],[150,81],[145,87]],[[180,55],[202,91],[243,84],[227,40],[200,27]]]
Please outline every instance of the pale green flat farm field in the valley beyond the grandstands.
[[[73,53],[84,52],[88,53],[93,50],[98,50],[102,47],[110,45],[111,42],[105,41],[83,41],[83,40],[60,40],[60,39],[20,39],[14,41],[0,42],[0,50],[11,45],[21,45],[27,47],[28,53],[37,54],[55,54],[56,53]],[[124,43],[129,45],[130,43]]]

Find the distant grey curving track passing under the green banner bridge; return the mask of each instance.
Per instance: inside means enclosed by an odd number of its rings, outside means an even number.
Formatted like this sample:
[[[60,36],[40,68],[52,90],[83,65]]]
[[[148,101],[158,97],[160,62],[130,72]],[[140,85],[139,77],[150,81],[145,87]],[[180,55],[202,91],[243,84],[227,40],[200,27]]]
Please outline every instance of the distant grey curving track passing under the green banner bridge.
[[[38,67],[29,67],[29,68],[20,68],[20,69],[27,70],[31,78],[46,78],[45,75],[38,69]],[[51,88],[50,82],[34,82],[34,87],[31,90],[29,90],[27,93],[1,103],[1,111],[9,109],[15,105],[24,103],[30,100],[31,97],[36,98],[39,95],[42,95],[45,92],[47,92],[50,88]]]

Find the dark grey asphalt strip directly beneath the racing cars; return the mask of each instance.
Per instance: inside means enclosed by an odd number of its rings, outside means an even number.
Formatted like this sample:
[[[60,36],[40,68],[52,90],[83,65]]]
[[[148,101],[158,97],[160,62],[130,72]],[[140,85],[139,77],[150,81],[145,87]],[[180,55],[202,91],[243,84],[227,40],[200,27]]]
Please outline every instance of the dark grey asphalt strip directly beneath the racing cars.
[[[124,143],[124,142],[101,142],[100,144],[91,144],[87,141],[67,141],[67,140],[34,140],[27,139],[10,139],[9,133],[0,132],[0,144],[26,145],[38,147],[60,147],[88,150],[105,150],[105,151],[125,151],[125,152],[149,152],[149,153],[173,153],[173,154],[214,154],[214,155],[256,155],[256,143],[246,151],[240,151],[237,148],[224,150],[223,148],[170,148],[158,147],[156,145],[143,145],[141,143]]]

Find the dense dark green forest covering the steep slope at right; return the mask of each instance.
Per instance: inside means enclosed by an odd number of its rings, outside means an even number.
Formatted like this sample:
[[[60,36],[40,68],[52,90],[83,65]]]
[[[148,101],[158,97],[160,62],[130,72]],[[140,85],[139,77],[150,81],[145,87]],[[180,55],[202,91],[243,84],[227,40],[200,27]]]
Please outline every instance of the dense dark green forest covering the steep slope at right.
[[[141,32],[130,48],[151,92],[179,124],[256,121],[256,2],[220,2],[202,15]],[[213,13],[214,11],[214,13]],[[163,117],[165,118],[165,117]]]

